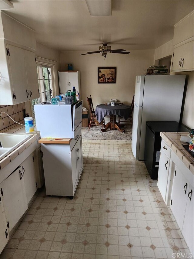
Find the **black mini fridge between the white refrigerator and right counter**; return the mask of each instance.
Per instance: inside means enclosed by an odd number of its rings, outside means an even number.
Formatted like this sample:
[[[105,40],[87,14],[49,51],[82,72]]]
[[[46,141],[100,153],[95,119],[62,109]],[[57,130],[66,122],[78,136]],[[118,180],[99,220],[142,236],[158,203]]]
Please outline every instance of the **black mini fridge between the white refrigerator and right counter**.
[[[189,132],[190,130],[176,121],[147,121],[146,122],[146,142],[144,152],[144,162],[151,176],[151,179],[158,178],[158,168],[160,159],[160,146],[162,138],[160,132]]]

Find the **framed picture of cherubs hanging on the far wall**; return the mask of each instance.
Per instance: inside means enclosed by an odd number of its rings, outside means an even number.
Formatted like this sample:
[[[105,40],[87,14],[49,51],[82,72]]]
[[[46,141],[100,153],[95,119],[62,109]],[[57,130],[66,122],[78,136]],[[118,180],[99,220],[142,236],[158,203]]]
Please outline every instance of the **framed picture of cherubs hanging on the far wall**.
[[[98,67],[98,83],[116,83],[116,67]]]

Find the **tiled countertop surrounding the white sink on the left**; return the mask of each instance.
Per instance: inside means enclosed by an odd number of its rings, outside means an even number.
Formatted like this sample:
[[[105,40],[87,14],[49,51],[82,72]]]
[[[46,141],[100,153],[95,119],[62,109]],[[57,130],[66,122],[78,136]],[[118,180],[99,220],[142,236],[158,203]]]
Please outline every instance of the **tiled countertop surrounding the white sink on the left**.
[[[24,120],[19,121],[19,123],[24,124]],[[35,121],[34,121],[34,130],[36,131]],[[25,132],[25,126],[14,123],[13,125],[2,129],[0,131],[0,133],[21,134],[21,133],[26,133],[26,132]],[[32,143],[35,142],[39,138],[40,138],[39,133],[33,134],[31,138],[27,139],[19,147],[17,147],[11,153],[9,153],[7,156],[5,156],[2,160],[0,160],[0,170],[2,170],[6,165],[8,165],[8,163],[10,163],[14,158],[16,158],[18,155],[20,155],[26,148],[28,148],[30,145],[32,145]]]

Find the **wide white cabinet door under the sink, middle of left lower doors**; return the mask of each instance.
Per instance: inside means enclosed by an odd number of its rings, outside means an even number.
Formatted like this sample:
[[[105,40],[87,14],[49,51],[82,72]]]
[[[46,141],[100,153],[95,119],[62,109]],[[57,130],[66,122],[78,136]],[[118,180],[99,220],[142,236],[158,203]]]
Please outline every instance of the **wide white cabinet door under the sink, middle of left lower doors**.
[[[22,166],[16,169],[1,183],[6,222],[10,232],[28,209]]]

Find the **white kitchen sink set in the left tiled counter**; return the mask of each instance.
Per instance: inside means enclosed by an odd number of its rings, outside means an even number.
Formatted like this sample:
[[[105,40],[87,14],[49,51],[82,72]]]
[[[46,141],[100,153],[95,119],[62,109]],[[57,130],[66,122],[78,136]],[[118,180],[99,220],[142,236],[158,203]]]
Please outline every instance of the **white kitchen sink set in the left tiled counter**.
[[[0,160],[24,143],[32,135],[0,133]]]

